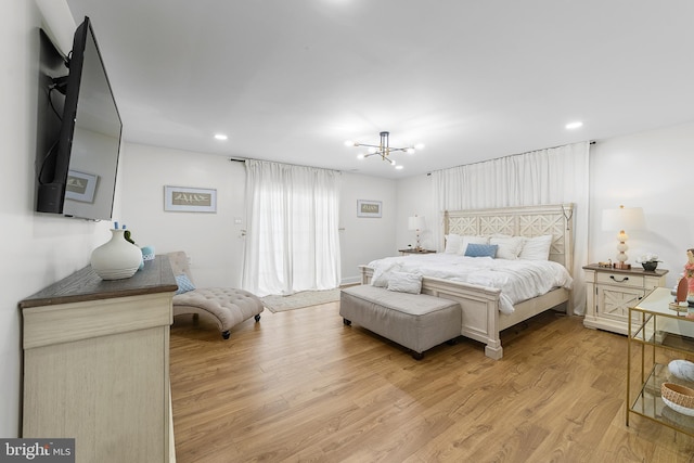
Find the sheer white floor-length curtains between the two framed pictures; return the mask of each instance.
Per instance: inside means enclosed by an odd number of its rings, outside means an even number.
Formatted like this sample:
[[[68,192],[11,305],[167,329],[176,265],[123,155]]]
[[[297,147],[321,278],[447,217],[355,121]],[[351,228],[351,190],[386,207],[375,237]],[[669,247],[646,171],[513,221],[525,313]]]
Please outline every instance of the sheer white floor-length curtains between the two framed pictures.
[[[339,172],[245,164],[243,288],[266,296],[339,286]]]

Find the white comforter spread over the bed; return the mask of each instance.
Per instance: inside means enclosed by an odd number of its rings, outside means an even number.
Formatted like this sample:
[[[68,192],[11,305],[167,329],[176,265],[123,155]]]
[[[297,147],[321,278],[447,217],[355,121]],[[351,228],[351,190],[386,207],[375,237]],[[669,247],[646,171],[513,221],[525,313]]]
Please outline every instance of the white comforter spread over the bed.
[[[514,304],[555,287],[570,290],[573,284],[564,266],[551,260],[506,260],[437,253],[386,257],[369,262],[369,267],[374,269],[374,276],[384,271],[400,271],[499,288],[499,310],[503,313],[513,313]]]

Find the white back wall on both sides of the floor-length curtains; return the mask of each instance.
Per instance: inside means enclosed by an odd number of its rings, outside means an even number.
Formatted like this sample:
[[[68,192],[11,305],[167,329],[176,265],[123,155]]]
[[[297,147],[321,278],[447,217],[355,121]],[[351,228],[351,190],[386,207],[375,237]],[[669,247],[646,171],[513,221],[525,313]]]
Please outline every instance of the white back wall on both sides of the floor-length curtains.
[[[126,143],[123,214],[140,246],[183,249],[198,286],[241,287],[245,229],[245,167],[226,156]],[[217,190],[217,213],[164,211],[164,185]],[[358,218],[357,200],[383,202],[383,217]],[[358,266],[393,255],[395,182],[344,173],[340,188],[343,282],[359,281]],[[240,220],[241,223],[236,223]]]

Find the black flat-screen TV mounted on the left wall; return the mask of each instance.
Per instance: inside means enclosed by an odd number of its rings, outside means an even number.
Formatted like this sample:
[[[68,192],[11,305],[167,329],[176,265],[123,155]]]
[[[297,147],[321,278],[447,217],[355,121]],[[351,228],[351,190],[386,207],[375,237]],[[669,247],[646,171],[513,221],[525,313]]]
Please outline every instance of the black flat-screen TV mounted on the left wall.
[[[66,75],[56,75],[57,51],[44,42],[42,35],[36,210],[110,220],[123,123],[91,22],[75,31]]]

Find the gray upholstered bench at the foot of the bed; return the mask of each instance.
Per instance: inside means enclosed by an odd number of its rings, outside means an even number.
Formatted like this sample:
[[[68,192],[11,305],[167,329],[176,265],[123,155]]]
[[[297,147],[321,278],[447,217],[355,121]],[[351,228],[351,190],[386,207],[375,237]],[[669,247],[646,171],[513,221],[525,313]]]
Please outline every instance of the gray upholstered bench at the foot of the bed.
[[[461,333],[460,304],[368,284],[342,290],[339,314],[346,325],[355,322],[411,349],[416,360],[425,350],[452,342]]]

